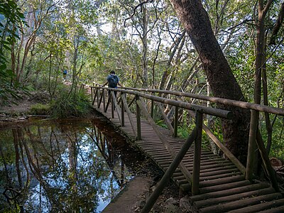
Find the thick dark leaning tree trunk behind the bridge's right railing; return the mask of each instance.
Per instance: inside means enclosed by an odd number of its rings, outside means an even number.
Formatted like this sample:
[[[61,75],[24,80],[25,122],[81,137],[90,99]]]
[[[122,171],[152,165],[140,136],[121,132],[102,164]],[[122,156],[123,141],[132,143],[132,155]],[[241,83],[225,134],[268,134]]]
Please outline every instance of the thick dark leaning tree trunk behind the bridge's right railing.
[[[219,46],[209,16],[200,0],[170,0],[180,21],[200,55],[207,80],[216,97],[244,101],[239,84],[231,72]],[[249,110],[219,106],[233,111],[232,120],[222,120],[223,137],[226,146],[242,163],[246,162],[249,138]]]

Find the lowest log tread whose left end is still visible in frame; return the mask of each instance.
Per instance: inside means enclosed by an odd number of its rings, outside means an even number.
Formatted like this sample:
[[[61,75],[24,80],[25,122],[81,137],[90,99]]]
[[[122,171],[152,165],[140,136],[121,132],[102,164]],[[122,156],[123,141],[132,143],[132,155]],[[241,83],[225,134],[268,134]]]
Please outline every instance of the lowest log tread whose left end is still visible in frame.
[[[227,202],[225,204],[216,204],[211,207],[205,207],[199,209],[200,213],[221,213],[229,212],[234,209],[239,209],[242,207],[248,207],[249,205],[261,204],[262,202],[269,202],[271,200],[277,200],[278,197],[282,197],[280,193],[273,193],[269,195],[262,195],[258,197],[252,197],[245,200],[237,200],[234,202]]]

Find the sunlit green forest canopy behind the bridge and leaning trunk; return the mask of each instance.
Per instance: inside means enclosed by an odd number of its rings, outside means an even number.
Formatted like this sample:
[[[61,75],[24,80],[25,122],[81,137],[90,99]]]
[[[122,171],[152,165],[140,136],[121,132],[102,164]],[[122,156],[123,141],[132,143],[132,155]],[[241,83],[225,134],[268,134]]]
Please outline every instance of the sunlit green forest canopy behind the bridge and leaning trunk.
[[[53,102],[62,89],[62,70],[68,71],[72,87],[62,95],[60,104],[66,97],[77,97],[80,82],[103,84],[110,70],[126,87],[212,95],[202,59],[173,2],[1,0],[1,104],[9,103],[23,90],[48,91]],[[246,101],[256,101],[255,74],[261,54],[260,103],[283,108],[284,2],[200,2]],[[183,121],[187,126],[186,119]],[[219,121],[211,122],[213,129],[219,125]],[[282,158],[283,124],[283,117],[260,115],[263,139],[272,144],[273,155]],[[277,138],[273,143],[271,129]]]

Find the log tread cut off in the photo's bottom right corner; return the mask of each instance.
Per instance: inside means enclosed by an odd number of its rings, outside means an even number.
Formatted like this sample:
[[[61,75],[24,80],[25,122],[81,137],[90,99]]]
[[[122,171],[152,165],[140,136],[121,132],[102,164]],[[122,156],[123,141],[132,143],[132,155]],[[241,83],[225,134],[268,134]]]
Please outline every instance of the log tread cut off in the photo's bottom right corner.
[[[273,208],[273,209],[271,209]],[[263,209],[266,209],[264,211],[261,211]],[[284,199],[280,199],[280,200],[273,200],[270,202],[263,202],[261,204],[256,204],[253,206],[249,206],[249,207],[244,207],[241,209],[236,209],[233,211],[230,211],[229,213],[250,213],[250,212],[258,212],[258,213],[273,213],[273,212],[284,212]]]

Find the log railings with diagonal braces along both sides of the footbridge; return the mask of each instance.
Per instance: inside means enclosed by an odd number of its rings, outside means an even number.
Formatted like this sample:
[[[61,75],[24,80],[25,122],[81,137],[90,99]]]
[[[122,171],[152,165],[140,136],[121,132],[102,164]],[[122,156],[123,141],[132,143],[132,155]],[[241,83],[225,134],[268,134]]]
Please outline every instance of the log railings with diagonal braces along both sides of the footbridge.
[[[160,140],[163,141],[165,147],[168,149],[170,155],[173,157],[173,162],[170,164],[170,167],[165,172],[165,175],[163,176],[162,180],[160,181],[160,184],[156,188],[155,192],[151,195],[151,200],[156,200],[158,198],[158,195],[160,195],[161,190],[163,190],[163,187],[165,187],[165,182],[173,175],[175,169],[177,167],[180,168],[183,175],[185,175],[185,178],[189,182],[192,183],[192,193],[198,194],[199,192],[199,179],[200,179],[200,155],[201,155],[201,136],[202,136],[202,129],[207,133],[207,135],[216,143],[216,145],[224,152],[227,158],[231,160],[232,163],[236,165],[239,170],[246,174],[246,178],[251,177],[251,175],[247,175],[248,173],[252,173],[252,168],[245,168],[244,165],[242,165],[239,160],[224,146],[222,142],[220,142],[214,134],[209,131],[207,126],[205,126],[202,122],[203,114],[209,114],[212,116],[218,116],[224,119],[231,119],[232,113],[231,111],[226,111],[224,109],[216,109],[212,107],[204,107],[202,105],[197,104],[189,104],[187,102],[183,102],[180,97],[190,97],[195,99],[204,100],[207,102],[213,102],[217,104],[226,104],[234,107],[241,107],[243,109],[251,109],[251,111],[263,111],[268,112],[271,114],[277,114],[277,115],[284,115],[284,109],[279,109],[275,107],[268,107],[261,104],[251,104],[248,102],[238,102],[231,99],[222,99],[219,97],[207,97],[200,94],[190,94],[185,92],[174,92],[174,91],[168,91],[168,90],[158,90],[158,89],[138,89],[138,88],[131,88],[131,87],[120,87],[119,89],[113,89],[113,88],[107,88],[102,87],[101,84],[96,84],[92,88],[92,104],[94,104],[95,101],[97,101],[97,107],[100,108],[103,105],[104,111],[107,111],[109,104],[111,104],[111,116],[114,118],[114,109],[116,109],[117,116],[119,117],[119,121],[121,122],[121,126],[124,126],[124,116],[125,112],[127,116],[129,117],[129,121],[131,123],[131,127],[133,129],[133,133],[136,136],[136,140],[141,140],[142,133],[141,133],[141,114],[149,121],[157,135],[159,136]],[[119,101],[116,101],[116,95],[114,92],[118,92],[120,95]],[[150,93],[150,94],[148,94]],[[128,103],[126,100],[126,94],[130,94],[132,97],[131,101]],[[153,94],[170,94],[172,97],[175,97],[175,99],[168,99],[161,96],[155,96]],[[151,113],[148,112],[148,109],[146,108],[146,104],[143,102],[143,99],[151,100]],[[131,116],[131,111],[129,107],[133,103],[136,103],[136,125],[133,121],[133,117]],[[180,108],[190,111],[190,114],[192,116],[195,116],[195,129],[190,133],[190,136],[187,138],[187,141],[182,146],[180,151],[178,153],[175,153],[173,149],[170,147],[167,139],[163,134],[161,134],[158,129],[156,128],[155,122],[153,121],[153,106],[154,103],[158,105],[159,109],[162,109],[160,106],[160,103],[163,104],[169,104],[171,106],[175,107],[175,116],[174,116],[174,125],[172,126],[170,124],[170,121],[168,117],[163,114],[163,110],[161,110],[163,118],[165,120],[165,124],[168,126],[168,129],[173,132],[173,136],[178,136],[178,110]],[[121,107],[119,107],[119,104]],[[195,112],[195,114],[193,113]],[[253,116],[253,113],[251,114]],[[256,136],[258,136],[259,139],[259,133],[256,129],[256,126],[250,126],[250,131],[253,131]],[[251,133],[250,133],[251,135]],[[253,140],[249,140],[250,143]],[[275,190],[278,190],[277,181],[275,178],[275,172],[273,168],[271,167],[271,163],[269,161],[268,155],[266,153],[266,150],[264,148],[263,141],[256,140],[257,141],[258,148],[261,152],[261,157],[263,159],[263,163],[266,166],[266,170],[270,176],[271,183]],[[185,168],[185,166],[182,164],[181,160],[184,157],[187,150],[190,148],[192,143],[195,142],[195,153],[194,153],[194,165],[193,165],[193,171],[192,175],[188,172],[188,170]],[[250,146],[250,145],[249,145]],[[251,155],[253,156],[253,151],[249,150],[248,153],[248,160],[250,160]],[[150,200],[150,199],[149,199]],[[155,201],[154,201],[155,202]],[[144,209],[143,209],[144,210]]]

